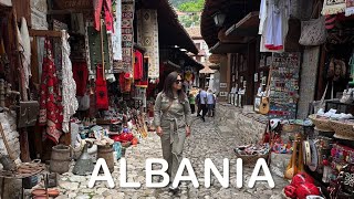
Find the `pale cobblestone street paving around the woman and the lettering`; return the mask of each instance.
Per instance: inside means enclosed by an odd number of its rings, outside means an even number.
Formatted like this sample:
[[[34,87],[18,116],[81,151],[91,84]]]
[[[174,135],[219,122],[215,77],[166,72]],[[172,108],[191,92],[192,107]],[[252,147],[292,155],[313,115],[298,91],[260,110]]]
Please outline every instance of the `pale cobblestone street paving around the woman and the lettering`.
[[[128,189],[119,187],[119,164],[116,164],[115,170],[112,174],[115,188],[110,189],[106,182],[96,182],[96,186],[92,189],[87,187],[90,176],[81,177],[74,176],[71,172],[61,175],[60,177],[60,191],[61,196],[58,199],[77,198],[77,199],[98,199],[98,198],[281,198],[281,189],[287,185],[287,181],[275,177],[275,188],[268,188],[267,182],[257,182],[253,189],[246,187],[248,179],[250,178],[253,168],[243,168],[243,188],[236,188],[236,157],[232,153],[232,148],[240,143],[238,142],[237,134],[222,134],[218,130],[218,127],[214,118],[207,117],[207,122],[202,123],[195,117],[192,125],[192,135],[187,139],[185,145],[184,156],[189,158],[195,169],[196,176],[199,180],[199,188],[194,188],[190,182],[183,182],[181,190],[177,193],[171,193],[167,188],[150,189],[145,185],[145,159],[146,158],[162,158],[162,149],[159,137],[155,134],[142,140],[135,147],[129,147],[126,150],[125,158],[127,160],[127,179],[131,181],[139,181],[142,187],[139,189]],[[211,158],[217,168],[222,170],[222,159],[229,158],[230,160],[230,187],[222,188],[221,185],[211,178],[211,187],[205,188],[204,186],[204,160],[205,158]],[[158,177],[154,177],[154,181],[157,181]]]

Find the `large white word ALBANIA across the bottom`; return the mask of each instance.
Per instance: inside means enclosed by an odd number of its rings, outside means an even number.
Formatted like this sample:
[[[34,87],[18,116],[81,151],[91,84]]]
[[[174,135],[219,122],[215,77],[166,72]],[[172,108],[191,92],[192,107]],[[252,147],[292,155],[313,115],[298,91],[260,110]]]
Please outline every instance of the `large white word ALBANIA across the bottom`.
[[[154,164],[160,164],[162,169],[153,170]],[[103,175],[98,175],[100,169],[104,171]],[[165,159],[158,159],[158,158],[149,158],[145,161],[145,170],[146,170],[146,187],[148,188],[163,188],[167,187],[169,184],[169,176],[167,174],[168,164]],[[187,169],[188,175],[183,176],[184,170]],[[259,176],[260,170],[262,169],[264,176]],[[237,174],[237,187],[242,188],[243,186],[243,175],[242,175],[242,159],[238,158],[236,164],[236,174]],[[211,172],[215,175],[217,180],[221,184],[223,188],[229,187],[229,179],[230,179],[230,165],[229,159],[223,159],[223,170],[222,175],[217,169],[217,167],[214,165],[211,159],[207,158],[205,160],[205,187],[210,188],[211,185]],[[159,182],[153,182],[153,176],[160,176],[163,178]],[[93,188],[95,186],[96,181],[106,181],[108,184],[110,188],[115,187],[115,182],[112,178],[112,175],[110,172],[110,169],[106,165],[106,161],[103,158],[97,159],[97,163],[95,165],[95,168],[92,172],[91,179],[88,181],[88,187]],[[192,166],[189,161],[189,159],[184,158],[179,165],[179,168],[177,170],[176,177],[173,181],[173,186],[177,187],[180,181],[191,181],[195,188],[199,187],[199,182],[197,179],[197,176],[192,169]],[[267,181],[270,188],[274,188],[274,180],[271,176],[271,172],[268,168],[268,165],[266,163],[266,159],[259,158],[251,178],[249,179],[248,187],[253,188],[256,181]],[[142,187],[142,184],[138,181],[135,182],[127,182],[127,169],[126,169],[126,159],[122,158],[119,160],[119,187],[121,188],[139,188]]]

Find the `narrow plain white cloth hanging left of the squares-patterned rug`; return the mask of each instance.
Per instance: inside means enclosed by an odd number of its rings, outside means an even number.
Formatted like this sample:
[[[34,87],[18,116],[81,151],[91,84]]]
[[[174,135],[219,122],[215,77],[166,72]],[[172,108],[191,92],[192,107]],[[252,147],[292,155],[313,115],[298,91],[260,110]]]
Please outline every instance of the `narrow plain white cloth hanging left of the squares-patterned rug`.
[[[122,60],[122,0],[113,1],[114,33],[112,34],[113,60]]]

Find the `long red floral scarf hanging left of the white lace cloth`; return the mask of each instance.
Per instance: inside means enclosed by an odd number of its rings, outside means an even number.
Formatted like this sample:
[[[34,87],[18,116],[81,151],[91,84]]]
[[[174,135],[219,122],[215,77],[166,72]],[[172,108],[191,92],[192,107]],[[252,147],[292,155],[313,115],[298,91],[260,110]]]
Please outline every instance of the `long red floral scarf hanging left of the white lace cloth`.
[[[52,45],[48,39],[44,41],[40,97],[41,109],[39,123],[42,126],[46,126],[44,137],[58,144],[62,135],[63,106],[52,55]]]

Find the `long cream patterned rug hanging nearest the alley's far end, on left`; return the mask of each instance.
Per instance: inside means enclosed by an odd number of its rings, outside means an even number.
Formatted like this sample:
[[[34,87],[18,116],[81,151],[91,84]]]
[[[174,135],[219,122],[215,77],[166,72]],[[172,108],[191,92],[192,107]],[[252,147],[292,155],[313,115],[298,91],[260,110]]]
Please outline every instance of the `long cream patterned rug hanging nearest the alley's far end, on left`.
[[[148,77],[159,76],[158,23],[156,10],[139,10],[137,12],[137,42],[146,49],[148,56]]]

